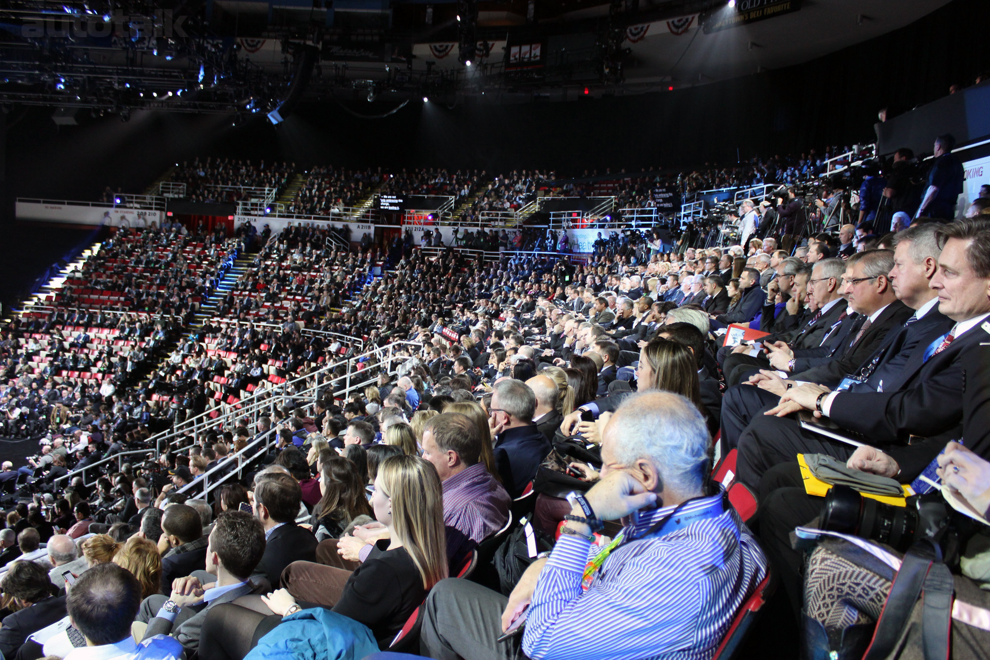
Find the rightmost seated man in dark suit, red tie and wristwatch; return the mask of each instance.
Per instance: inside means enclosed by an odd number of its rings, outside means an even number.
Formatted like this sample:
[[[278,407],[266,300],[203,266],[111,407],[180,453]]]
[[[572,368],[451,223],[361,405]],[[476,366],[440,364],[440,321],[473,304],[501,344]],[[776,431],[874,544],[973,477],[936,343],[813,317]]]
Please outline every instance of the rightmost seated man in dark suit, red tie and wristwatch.
[[[794,462],[799,453],[824,453],[841,460],[852,455],[850,445],[805,430],[791,412],[812,410],[829,417],[841,429],[860,433],[886,453],[902,474],[917,475],[945,441],[959,437],[962,419],[963,365],[966,349],[990,336],[990,223],[964,220],[936,230],[942,250],[931,286],[938,293],[939,311],[954,321],[945,333],[930,331],[909,359],[891,374],[890,382],[871,388],[869,379],[846,390],[823,385],[788,389],[773,415],[757,415],[739,442],[739,477],[754,491],[763,474],[778,463]],[[911,436],[925,438],[926,455],[906,448]],[[912,446],[913,446],[912,445]],[[884,459],[886,462],[887,459]],[[895,471],[896,474],[896,471]],[[888,475],[889,476],[889,475]]]

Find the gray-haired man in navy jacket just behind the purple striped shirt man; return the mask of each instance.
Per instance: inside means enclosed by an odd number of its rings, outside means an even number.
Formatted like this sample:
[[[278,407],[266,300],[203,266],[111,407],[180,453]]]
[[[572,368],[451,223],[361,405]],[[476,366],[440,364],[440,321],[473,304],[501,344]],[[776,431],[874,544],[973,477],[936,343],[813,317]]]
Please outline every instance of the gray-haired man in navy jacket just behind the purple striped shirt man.
[[[550,453],[550,443],[533,423],[536,409],[537,396],[522,381],[507,379],[492,387],[488,415],[495,431],[495,467],[513,497],[523,495]]]

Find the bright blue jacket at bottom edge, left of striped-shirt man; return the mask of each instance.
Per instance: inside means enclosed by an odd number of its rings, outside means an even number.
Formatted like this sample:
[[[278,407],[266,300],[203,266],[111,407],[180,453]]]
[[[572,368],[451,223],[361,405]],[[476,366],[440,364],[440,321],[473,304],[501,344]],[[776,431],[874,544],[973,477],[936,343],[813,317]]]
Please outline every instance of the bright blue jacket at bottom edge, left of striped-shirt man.
[[[366,625],[314,607],[283,618],[245,660],[361,660],[377,652],[378,642]]]

